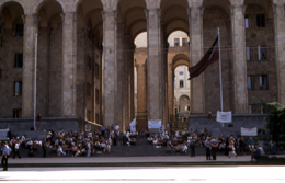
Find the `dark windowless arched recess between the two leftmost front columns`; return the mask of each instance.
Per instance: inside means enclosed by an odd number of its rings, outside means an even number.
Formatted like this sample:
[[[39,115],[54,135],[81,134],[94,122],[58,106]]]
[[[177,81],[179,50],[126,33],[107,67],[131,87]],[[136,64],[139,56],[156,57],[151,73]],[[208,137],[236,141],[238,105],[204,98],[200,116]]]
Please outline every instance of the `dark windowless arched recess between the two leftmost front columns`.
[[[62,7],[57,1],[38,5],[37,113],[61,116]]]

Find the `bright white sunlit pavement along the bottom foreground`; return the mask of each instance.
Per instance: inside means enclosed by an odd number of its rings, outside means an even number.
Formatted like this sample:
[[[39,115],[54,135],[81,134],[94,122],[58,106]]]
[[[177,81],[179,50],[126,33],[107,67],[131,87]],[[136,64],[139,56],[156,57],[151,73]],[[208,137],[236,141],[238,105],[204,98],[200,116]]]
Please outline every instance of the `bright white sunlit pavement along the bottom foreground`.
[[[8,182],[259,182],[284,183],[284,167],[11,168]]]

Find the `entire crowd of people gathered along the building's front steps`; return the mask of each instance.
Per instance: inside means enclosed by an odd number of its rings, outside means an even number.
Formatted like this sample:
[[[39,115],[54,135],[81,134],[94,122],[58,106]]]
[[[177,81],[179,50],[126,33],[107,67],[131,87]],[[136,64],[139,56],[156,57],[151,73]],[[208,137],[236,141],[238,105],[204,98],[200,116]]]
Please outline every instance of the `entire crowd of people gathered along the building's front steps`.
[[[71,156],[71,157],[91,157],[95,153],[111,152],[112,146],[132,146],[136,145],[138,136],[146,137],[147,144],[152,145],[155,148],[166,148],[167,155],[174,151],[175,155],[190,153],[195,157],[195,148],[204,147],[206,149],[206,160],[216,160],[217,152],[230,157],[237,157],[250,151],[252,160],[264,153],[263,140],[256,144],[250,137],[247,141],[243,137],[229,135],[228,137],[220,136],[219,138],[208,135],[208,130],[192,130],[190,131],[169,131],[161,130],[160,133],[149,133],[141,130],[138,133],[127,131],[121,133],[118,125],[112,125],[105,128],[102,126],[100,130],[95,131],[59,131],[48,130],[46,137],[41,139],[31,139],[23,136],[11,137],[8,140],[8,146],[11,149],[12,158],[21,158],[20,149],[27,149],[27,156],[39,156],[38,149],[43,149],[43,157],[47,152],[54,156]],[[274,151],[275,144],[271,140],[271,149]],[[2,147],[2,145],[0,145]],[[10,153],[11,155],[11,153]]]

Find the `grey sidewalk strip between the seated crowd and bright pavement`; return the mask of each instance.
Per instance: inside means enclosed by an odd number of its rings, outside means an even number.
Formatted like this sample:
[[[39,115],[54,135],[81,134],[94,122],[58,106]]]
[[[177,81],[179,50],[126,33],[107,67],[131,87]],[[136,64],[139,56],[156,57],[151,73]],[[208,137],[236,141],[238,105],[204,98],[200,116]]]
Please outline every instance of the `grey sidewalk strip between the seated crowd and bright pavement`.
[[[9,158],[9,167],[285,165],[284,155],[270,156],[266,162],[250,159],[250,156],[218,156],[216,161],[206,160],[205,156]]]

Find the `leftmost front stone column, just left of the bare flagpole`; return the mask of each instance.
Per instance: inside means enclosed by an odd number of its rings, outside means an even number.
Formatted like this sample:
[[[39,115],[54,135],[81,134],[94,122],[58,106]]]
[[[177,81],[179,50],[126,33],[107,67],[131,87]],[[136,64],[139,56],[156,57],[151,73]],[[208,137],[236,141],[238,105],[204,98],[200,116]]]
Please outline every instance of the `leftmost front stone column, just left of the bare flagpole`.
[[[34,116],[34,65],[35,65],[35,34],[37,33],[37,16],[23,15],[23,95],[22,117]]]

